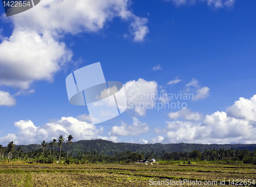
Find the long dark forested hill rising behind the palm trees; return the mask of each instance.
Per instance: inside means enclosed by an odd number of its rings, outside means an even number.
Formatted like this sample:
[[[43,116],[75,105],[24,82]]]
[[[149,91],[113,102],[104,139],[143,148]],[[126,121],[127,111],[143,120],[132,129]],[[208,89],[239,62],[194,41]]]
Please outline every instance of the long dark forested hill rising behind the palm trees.
[[[30,144],[27,146],[23,145],[16,145],[16,150],[18,147],[21,147],[24,152],[29,152],[33,150],[38,150],[41,148],[38,144]],[[250,151],[255,150],[256,144],[186,144],[186,143],[179,143],[179,144],[131,144],[131,143],[114,143],[111,141],[105,141],[103,139],[92,139],[92,140],[83,140],[74,142],[70,146],[70,153],[73,154],[73,156],[76,156],[78,152],[82,151],[84,152],[91,152],[95,151],[99,154],[104,153],[104,155],[107,156],[114,156],[115,153],[121,153],[125,151],[131,151],[131,152],[150,152],[154,150],[154,152],[162,152],[163,150],[165,152],[191,152],[193,150],[199,150],[203,152],[205,149],[211,150],[211,149],[248,149]],[[48,146],[48,149],[50,147]],[[55,146],[55,150],[59,150],[57,146]],[[65,144],[62,146],[63,151],[67,152],[68,145]]]

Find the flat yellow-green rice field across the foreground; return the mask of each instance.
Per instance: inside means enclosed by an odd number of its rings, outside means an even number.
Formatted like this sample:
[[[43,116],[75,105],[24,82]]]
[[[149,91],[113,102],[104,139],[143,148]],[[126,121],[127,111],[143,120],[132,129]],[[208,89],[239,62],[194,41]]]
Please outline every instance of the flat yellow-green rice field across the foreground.
[[[248,186],[255,176],[253,165],[0,165],[0,186]]]

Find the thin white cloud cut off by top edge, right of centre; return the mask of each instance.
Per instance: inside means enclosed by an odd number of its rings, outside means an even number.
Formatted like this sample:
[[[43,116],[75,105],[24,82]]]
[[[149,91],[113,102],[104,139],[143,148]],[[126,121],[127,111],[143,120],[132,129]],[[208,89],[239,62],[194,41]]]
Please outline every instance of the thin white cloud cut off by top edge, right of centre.
[[[177,6],[180,5],[193,5],[197,1],[196,0],[165,0],[175,3]],[[231,8],[235,0],[199,0],[199,2],[206,2],[208,6],[212,6],[215,8]]]

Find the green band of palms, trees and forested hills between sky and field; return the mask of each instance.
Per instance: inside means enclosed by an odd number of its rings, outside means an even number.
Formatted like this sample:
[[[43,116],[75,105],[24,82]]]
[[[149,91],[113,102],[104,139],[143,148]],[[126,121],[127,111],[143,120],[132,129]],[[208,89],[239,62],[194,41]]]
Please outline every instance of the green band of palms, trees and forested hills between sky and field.
[[[62,135],[58,141],[48,144],[42,141],[41,145],[18,146],[15,148],[13,142],[8,144],[7,148],[0,145],[0,162],[13,163],[67,163],[67,164],[84,164],[84,163],[130,163],[143,158],[150,160],[152,158],[163,164],[176,163],[180,161],[182,164],[191,161],[193,163],[255,163],[256,149],[250,151],[248,149],[194,149],[202,146],[200,144],[129,144],[129,143],[113,143],[102,139],[94,139],[91,141],[78,141],[72,143],[73,136],[65,139]],[[58,143],[55,151],[54,146]],[[126,146],[126,147],[125,147]],[[176,147],[174,147],[176,146]],[[205,146],[223,146],[223,145],[205,145]],[[232,145],[245,148],[248,145]],[[244,147],[243,147],[244,146]],[[252,148],[253,145],[249,145]],[[255,146],[255,145],[254,145]],[[204,146],[202,146],[205,148]],[[28,148],[34,148],[28,151]],[[53,148],[53,151],[52,151]],[[131,148],[131,149],[129,149]],[[163,148],[163,149],[162,149]],[[161,150],[162,149],[162,150]],[[174,151],[172,151],[174,150]],[[185,150],[185,151],[183,151]],[[69,154],[70,153],[70,154]],[[181,161],[182,160],[182,161]],[[166,161],[166,162],[165,162]]]

